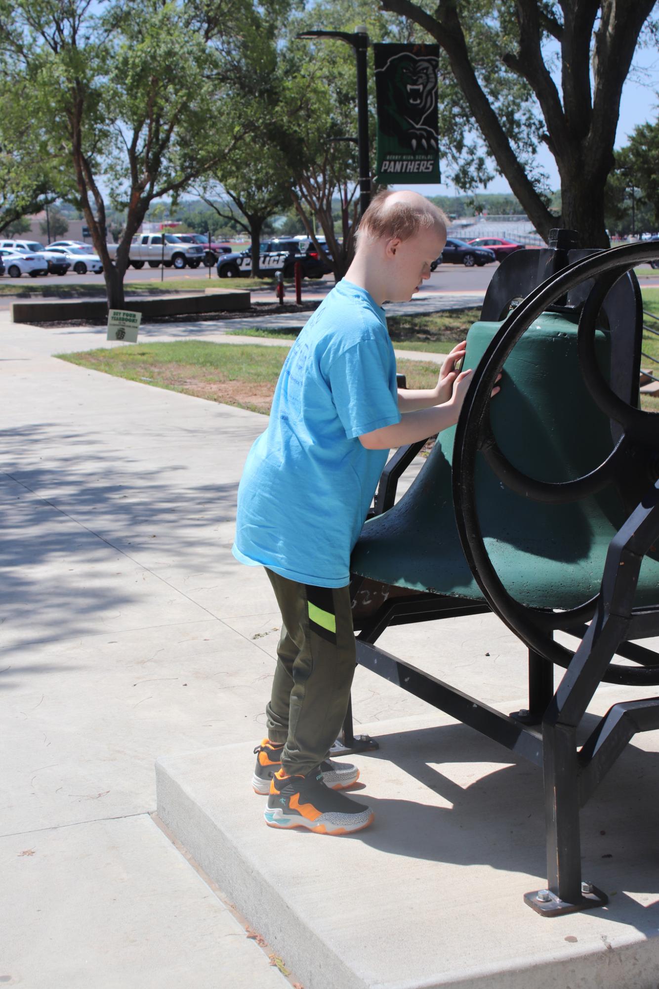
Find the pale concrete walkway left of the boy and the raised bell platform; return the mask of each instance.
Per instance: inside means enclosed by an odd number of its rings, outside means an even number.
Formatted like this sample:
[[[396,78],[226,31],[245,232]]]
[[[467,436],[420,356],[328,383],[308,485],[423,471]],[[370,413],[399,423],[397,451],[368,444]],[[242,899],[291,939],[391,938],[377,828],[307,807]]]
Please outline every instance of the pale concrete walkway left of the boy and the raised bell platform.
[[[159,756],[263,735],[279,619],[230,546],[266,418],[51,356],[104,335],[0,315],[0,982],[276,989],[150,816]]]

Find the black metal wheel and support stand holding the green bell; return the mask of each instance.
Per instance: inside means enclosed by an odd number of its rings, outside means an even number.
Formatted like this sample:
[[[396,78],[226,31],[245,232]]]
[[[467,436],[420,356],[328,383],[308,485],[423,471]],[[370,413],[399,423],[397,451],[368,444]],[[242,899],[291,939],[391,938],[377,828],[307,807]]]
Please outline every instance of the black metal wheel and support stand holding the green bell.
[[[619,483],[628,465],[619,465],[617,458],[626,444],[633,454],[640,453],[644,465],[648,462],[659,448],[659,416],[636,414],[637,409],[618,399],[599,372],[592,343],[595,319],[611,286],[635,264],[657,256],[655,245],[634,244],[588,255],[554,272],[505,319],[474,372],[453,446],[453,503],[462,549],[487,605],[482,600],[459,601],[430,593],[391,599],[366,620],[357,638],[361,666],[542,767],[547,886],[527,893],[525,902],[546,917],[607,902],[602,890],[582,880],[580,807],[634,734],[659,729],[659,698],[621,702],[600,719],[581,748],[577,744],[577,727],[600,682],[659,682],[659,654],[629,641],[659,634],[659,606],[633,607],[641,562],[659,541],[659,481],[652,486],[648,480],[649,490],[612,540],[600,593],[578,607],[556,612],[527,607],[508,594],[499,581],[478,525],[475,459],[480,451],[500,480],[513,490],[521,489],[521,494],[554,502],[592,494],[610,478]],[[536,316],[584,280],[594,280],[596,285],[590,300],[582,299],[579,359],[595,401],[622,426],[622,440],[604,464],[586,478],[565,485],[543,485],[526,478],[496,449],[489,429],[490,394],[506,358]],[[618,426],[612,432],[618,436]],[[408,459],[409,452],[401,452],[400,463],[393,464],[386,477],[383,475],[378,493],[380,510],[393,501],[396,477]],[[636,477],[634,486],[638,480]],[[355,578],[355,591],[361,580]],[[529,647],[530,711],[502,714],[375,645],[389,624],[478,613],[487,606]],[[588,621],[590,625],[585,624]],[[553,641],[556,629],[581,639],[576,652]],[[617,655],[638,666],[634,669],[614,665],[612,659]],[[567,668],[555,692],[553,664]]]

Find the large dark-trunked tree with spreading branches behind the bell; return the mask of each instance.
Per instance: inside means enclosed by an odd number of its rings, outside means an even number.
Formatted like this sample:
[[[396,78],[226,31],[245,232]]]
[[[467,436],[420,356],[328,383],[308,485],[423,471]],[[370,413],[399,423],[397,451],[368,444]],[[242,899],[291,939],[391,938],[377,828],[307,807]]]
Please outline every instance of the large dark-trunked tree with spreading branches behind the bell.
[[[607,246],[604,202],[620,94],[637,44],[654,42],[655,0],[380,0],[442,50],[440,131],[460,188],[496,171],[546,236],[578,230]],[[547,207],[535,165],[556,161],[562,216]]]

